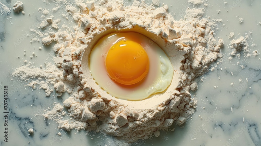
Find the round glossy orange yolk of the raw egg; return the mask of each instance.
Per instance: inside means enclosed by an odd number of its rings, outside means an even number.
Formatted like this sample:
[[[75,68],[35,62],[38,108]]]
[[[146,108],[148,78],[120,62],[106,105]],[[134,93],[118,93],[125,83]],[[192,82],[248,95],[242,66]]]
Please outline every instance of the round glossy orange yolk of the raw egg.
[[[105,59],[108,75],[118,83],[140,82],[149,71],[149,58],[137,42],[121,40],[111,46]]]

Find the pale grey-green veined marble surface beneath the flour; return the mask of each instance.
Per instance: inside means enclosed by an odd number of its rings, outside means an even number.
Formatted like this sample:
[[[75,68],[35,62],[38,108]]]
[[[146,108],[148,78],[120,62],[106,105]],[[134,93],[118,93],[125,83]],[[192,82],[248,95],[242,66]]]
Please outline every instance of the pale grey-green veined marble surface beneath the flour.
[[[13,3],[10,0],[2,0],[1,2],[12,8]],[[58,130],[54,121],[45,120],[41,116],[45,109],[52,108],[54,102],[61,103],[62,100],[68,98],[68,94],[64,94],[61,98],[52,95],[45,97],[44,90],[32,90],[23,86],[25,84],[23,81],[11,80],[11,72],[17,66],[22,65],[23,60],[30,60],[34,66],[39,66],[46,61],[51,61],[54,56],[49,46],[43,46],[41,42],[37,41],[30,43],[32,38],[39,38],[37,35],[29,32],[29,37],[27,37],[24,34],[29,29],[35,28],[35,24],[40,22],[38,18],[41,14],[38,13],[38,8],[51,10],[55,7],[55,3],[46,5],[41,0],[24,0],[22,2],[24,3],[25,15],[13,11],[8,15],[0,15],[1,145],[115,145],[118,141],[115,137],[101,132],[86,134],[85,131]],[[251,52],[254,50],[261,52],[259,47],[261,45],[261,25],[259,24],[261,21],[261,1],[235,0],[227,1],[227,4],[224,2],[226,1],[209,0],[206,2],[208,4],[208,7],[205,8],[206,16],[223,20],[222,23],[217,23],[219,29],[215,31],[215,36],[223,38],[225,46],[222,49],[222,63],[214,63],[215,70],[200,77],[199,88],[192,93],[198,99],[198,106],[192,119],[181,126],[172,125],[171,129],[175,128],[174,132],[161,131],[159,137],[126,145],[261,145],[261,60],[259,60],[261,56],[259,54],[256,58],[233,58],[229,61],[228,57],[230,56],[227,55],[232,51],[229,47],[229,42],[232,39],[228,39],[231,31],[235,32],[233,39],[239,38],[241,35],[245,36],[250,31],[253,32],[248,40],[249,49]],[[129,3],[127,2],[127,4]],[[162,3],[173,5],[169,11],[175,13],[175,19],[183,18],[184,12],[189,6],[185,0],[162,1]],[[218,10],[221,10],[219,14]],[[64,9],[59,9],[54,16],[61,15],[65,13],[64,11]],[[28,15],[29,13],[31,15]],[[239,23],[240,17],[244,18],[243,23]],[[63,17],[61,19],[60,26],[66,24],[72,28],[75,25],[71,17],[68,20]],[[43,32],[47,32],[47,30],[43,30]],[[18,45],[15,45],[14,42]],[[251,47],[252,44],[256,44],[256,47]],[[39,47],[43,49],[39,50]],[[23,55],[24,50],[28,55]],[[29,56],[32,52],[35,52],[37,57],[30,59]],[[242,69],[241,65],[245,68]],[[246,78],[248,78],[248,83]],[[239,79],[242,79],[242,82]],[[234,86],[232,87],[230,83],[234,83]],[[5,142],[3,137],[4,128],[6,128],[4,126],[5,113],[3,113],[6,112],[3,103],[4,86],[8,86],[9,96],[8,142]],[[34,133],[28,135],[30,128],[33,128]],[[62,135],[57,135],[58,132],[61,132]]]

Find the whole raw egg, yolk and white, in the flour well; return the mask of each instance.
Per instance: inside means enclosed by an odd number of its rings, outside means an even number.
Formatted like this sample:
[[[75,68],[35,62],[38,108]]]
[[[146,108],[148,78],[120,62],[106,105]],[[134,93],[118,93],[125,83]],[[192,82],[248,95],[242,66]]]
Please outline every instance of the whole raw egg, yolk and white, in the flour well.
[[[143,100],[163,92],[173,78],[173,66],[165,52],[137,32],[115,32],[100,38],[89,58],[96,84],[123,100]]]

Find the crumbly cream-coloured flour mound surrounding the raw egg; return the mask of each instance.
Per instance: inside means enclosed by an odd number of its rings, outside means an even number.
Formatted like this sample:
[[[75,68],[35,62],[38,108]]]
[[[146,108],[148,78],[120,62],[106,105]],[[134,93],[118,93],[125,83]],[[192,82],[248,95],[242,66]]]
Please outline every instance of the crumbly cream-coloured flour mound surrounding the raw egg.
[[[202,1],[190,1],[195,2],[197,5],[203,4]],[[173,123],[181,125],[191,118],[197,104],[189,93],[198,88],[194,80],[208,72],[209,65],[222,57],[220,47],[224,44],[223,39],[214,38],[210,26],[213,23],[202,18],[203,9],[188,9],[186,19],[179,21],[167,12],[167,5],[155,8],[145,1],[134,1],[131,6],[125,6],[120,0],[76,0],[75,5],[66,5],[65,9],[78,23],[74,31],[50,32],[42,38],[44,45],[56,41],[53,47],[57,55],[55,66],[47,63],[46,69],[39,69],[27,63],[12,74],[25,81],[33,78],[35,81],[27,86],[36,88],[38,85],[45,89],[46,96],[54,92],[52,87],[56,90],[56,96],[66,91],[70,93],[70,98],[64,100],[63,105],[58,103],[43,114],[46,119],[56,120],[58,128],[68,131],[97,129],[134,142],[153,135],[157,137],[159,130],[166,130]],[[180,63],[179,86],[173,89],[175,93],[151,109],[129,109],[121,102],[100,96],[86,82],[82,72],[82,54],[95,36],[108,29],[134,27],[152,32],[164,39],[166,44],[186,52]],[[69,108],[68,115],[72,118],[65,118],[64,107]],[[98,121],[102,124],[97,125]]]

